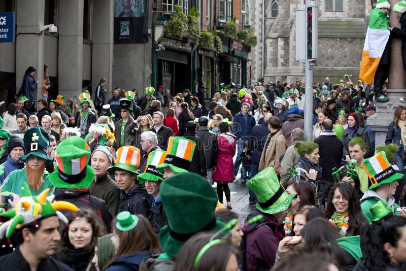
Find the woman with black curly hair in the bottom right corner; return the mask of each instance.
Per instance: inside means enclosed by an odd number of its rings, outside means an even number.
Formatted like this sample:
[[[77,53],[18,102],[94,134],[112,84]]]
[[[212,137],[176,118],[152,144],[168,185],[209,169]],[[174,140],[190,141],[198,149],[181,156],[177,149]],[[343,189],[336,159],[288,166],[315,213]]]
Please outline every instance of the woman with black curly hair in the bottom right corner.
[[[362,258],[353,270],[401,270],[406,262],[406,218],[385,217],[372,223],[361,239]]]

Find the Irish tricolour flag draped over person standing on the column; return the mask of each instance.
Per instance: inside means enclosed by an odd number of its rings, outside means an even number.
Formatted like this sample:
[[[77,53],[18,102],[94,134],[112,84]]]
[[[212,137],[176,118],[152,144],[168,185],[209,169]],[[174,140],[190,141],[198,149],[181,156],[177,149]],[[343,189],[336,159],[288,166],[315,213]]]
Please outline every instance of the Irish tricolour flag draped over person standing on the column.
[[[378,8],[371,11],[362,51],[359,79],[367,84],[374,81],[379,61],[389,40],[389,23],[386,13]]]

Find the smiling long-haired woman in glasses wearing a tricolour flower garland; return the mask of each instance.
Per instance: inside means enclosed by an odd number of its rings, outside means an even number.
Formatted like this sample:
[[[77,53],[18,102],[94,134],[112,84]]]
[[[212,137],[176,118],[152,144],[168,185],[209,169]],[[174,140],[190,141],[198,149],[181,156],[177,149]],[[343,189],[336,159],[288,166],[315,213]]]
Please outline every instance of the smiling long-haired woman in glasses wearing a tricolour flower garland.
[[[330,191],[324,217],[340,229],[343,237],[360,235],[368,225],[354,187],[346,183],[337,183]]]

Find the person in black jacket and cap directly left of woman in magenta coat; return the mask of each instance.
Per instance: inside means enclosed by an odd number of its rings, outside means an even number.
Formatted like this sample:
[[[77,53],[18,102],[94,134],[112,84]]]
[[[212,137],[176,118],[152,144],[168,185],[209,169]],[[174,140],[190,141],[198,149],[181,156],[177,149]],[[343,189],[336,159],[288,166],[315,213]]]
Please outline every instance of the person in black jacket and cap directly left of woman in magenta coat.
[[[207,117],[199,118],[200,127],[196,131],[196,136],[201,138],[205,146],[207,180],[211,183],[212,169],[217,165],[218,146],[216,135],[207,127],[208,122]]]

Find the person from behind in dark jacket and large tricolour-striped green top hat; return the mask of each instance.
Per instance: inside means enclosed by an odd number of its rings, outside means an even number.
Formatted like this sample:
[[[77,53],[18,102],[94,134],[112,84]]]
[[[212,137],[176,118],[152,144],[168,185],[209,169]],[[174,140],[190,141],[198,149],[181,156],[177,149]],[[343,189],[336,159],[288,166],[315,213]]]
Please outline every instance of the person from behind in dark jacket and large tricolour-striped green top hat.
[[[90,195],[89,187],[94,180],[94,170],[88,165],[90,148],[80,137],[70,137],[56,147],[55,159],[59,165],[49,175],[49,181],[55,186],[55,200],[71,202],[76,207],[90,207],[103,220],[108,232],[111,229],[112,215],[106,202]],[[73,164],[72,161],[79,161]]]

